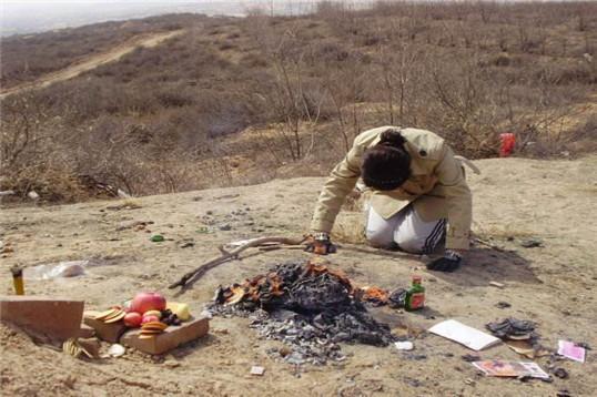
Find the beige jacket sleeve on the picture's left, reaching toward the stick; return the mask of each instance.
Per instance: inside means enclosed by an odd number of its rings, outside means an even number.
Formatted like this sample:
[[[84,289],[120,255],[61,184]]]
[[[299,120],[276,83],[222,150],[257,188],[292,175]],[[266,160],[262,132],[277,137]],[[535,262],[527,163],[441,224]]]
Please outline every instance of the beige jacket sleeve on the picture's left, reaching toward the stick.
[[[353,145],[330,174],[320,194],[311,222],[311,230],[330,233],[348,193],[361,176],[362,149]]]

